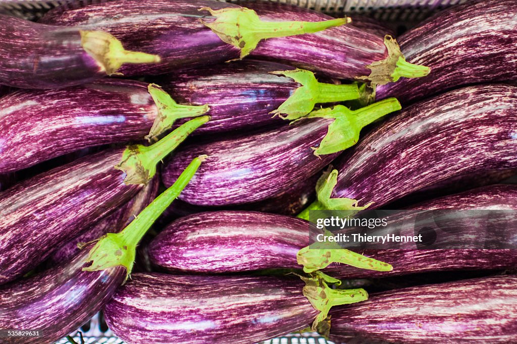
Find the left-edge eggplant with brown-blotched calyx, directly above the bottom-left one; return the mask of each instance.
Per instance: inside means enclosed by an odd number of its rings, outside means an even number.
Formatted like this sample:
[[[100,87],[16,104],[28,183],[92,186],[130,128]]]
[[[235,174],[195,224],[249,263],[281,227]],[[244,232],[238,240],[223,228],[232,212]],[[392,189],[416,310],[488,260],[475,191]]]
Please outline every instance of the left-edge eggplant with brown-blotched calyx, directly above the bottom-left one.
[[[52,249],[124,205],[156,173],[156,164],[208,120],[196,117],[150,147],[88,155],[0,194],[0,283],[31,270]]]

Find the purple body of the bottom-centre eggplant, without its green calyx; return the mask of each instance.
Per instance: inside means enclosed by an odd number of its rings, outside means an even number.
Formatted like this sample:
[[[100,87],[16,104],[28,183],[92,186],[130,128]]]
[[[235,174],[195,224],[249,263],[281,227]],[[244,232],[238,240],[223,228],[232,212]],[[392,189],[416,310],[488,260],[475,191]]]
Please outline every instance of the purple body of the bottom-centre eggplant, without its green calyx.
[[[303,285],[271,276],[135,273],[104,317],[130,344],[255,343],[301,330],[316,317]]]

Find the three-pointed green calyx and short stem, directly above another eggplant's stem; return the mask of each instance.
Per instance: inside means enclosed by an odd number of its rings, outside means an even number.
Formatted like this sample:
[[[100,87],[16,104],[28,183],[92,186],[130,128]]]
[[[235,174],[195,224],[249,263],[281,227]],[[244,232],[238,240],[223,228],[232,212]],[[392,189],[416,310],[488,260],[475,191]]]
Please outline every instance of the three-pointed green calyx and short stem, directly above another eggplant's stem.
[[[149,135],[145,136],[149,142],[156,142],[160,134],[171,129],[177,119],[201,116],[210,110],[208,105],[181,105],[171,98],[169,93],[165,92],[156,84],[149,84],[147,87],[149,94],[155,101],[158,108],[158,114],[153,122],[153,126],[149,131]]]

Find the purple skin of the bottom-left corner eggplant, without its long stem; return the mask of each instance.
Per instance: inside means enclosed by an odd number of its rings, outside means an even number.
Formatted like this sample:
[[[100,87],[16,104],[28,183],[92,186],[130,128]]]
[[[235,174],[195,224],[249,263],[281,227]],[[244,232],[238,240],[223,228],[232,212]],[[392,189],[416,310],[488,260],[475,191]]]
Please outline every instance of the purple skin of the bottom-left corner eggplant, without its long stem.
[[[54,268],[0,287],[0,329],[40,332],[4,337],[2,343],[55,343],[102,309],[124,282],[126,270],[82,271],[92,246]]]

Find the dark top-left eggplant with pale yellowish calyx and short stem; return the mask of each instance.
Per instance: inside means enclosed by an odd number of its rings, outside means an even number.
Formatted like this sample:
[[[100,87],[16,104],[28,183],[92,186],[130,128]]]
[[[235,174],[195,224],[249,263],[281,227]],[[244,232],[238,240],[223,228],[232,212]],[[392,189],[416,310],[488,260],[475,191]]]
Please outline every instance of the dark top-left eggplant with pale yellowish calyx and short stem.
[[[0,83],[19,88],[80,85],[117,73],[123,64],[157,62],[128,51],[112,35],[83,27],[39,24],[0,14]]]

